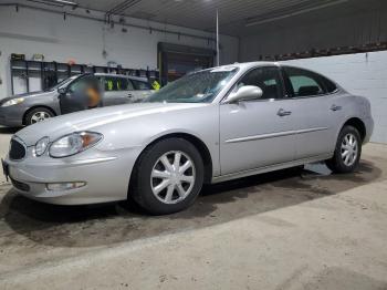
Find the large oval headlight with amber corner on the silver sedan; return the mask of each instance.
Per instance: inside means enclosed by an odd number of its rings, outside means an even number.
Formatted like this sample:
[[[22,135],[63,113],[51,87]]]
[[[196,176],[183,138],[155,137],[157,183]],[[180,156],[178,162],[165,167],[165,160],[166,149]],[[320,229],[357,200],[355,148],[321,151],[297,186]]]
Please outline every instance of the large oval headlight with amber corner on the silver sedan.
[[[76,132],[65,135],[50,146],[51,157],[62,158],[83,152],[103,138],[103,135],[95,132]]]

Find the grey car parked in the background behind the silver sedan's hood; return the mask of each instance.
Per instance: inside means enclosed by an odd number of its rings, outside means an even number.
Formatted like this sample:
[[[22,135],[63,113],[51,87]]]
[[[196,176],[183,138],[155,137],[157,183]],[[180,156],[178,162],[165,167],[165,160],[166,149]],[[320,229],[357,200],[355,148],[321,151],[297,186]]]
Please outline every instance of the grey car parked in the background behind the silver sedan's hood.
[[[0,100],[0,125],[31,125],[95,106],[136,103],[150,93],[150,85],[144,77],[102,73],[74,75],[44,92]]]

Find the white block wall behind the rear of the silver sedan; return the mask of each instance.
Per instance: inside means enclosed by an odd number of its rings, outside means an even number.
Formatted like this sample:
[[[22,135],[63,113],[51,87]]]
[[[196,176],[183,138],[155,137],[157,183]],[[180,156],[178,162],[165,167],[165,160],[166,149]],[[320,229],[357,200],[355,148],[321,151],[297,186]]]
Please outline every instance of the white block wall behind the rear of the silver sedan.
[[[375,121],[373,142],[387,143],[387,51],[285,61],[320,72],[348,92],[368,97]]]

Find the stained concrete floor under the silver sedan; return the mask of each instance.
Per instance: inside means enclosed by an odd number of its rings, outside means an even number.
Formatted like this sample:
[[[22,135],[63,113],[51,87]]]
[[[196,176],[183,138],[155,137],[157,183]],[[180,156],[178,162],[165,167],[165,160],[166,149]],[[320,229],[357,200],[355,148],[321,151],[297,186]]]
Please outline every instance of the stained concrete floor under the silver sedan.
[[[313,165],[208,186],[163,217],[43,205],[2,182],[0,289],[387,289],[386,228],[378,144],[355,174]]]

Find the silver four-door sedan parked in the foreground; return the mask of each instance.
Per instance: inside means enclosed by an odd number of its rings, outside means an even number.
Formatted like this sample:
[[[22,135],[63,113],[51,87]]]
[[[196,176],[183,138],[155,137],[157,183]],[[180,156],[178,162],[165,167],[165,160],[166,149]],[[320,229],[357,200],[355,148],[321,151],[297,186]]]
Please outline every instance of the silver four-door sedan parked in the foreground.
[[[369,102],[321,74],[232,64],[188,74],[143,103],[25,127],[12,137],[3,170],[40,201],[130,196],[151,214],[170,214],[190,206],[205,183],[312,162],[353,172],[373,127]]]

